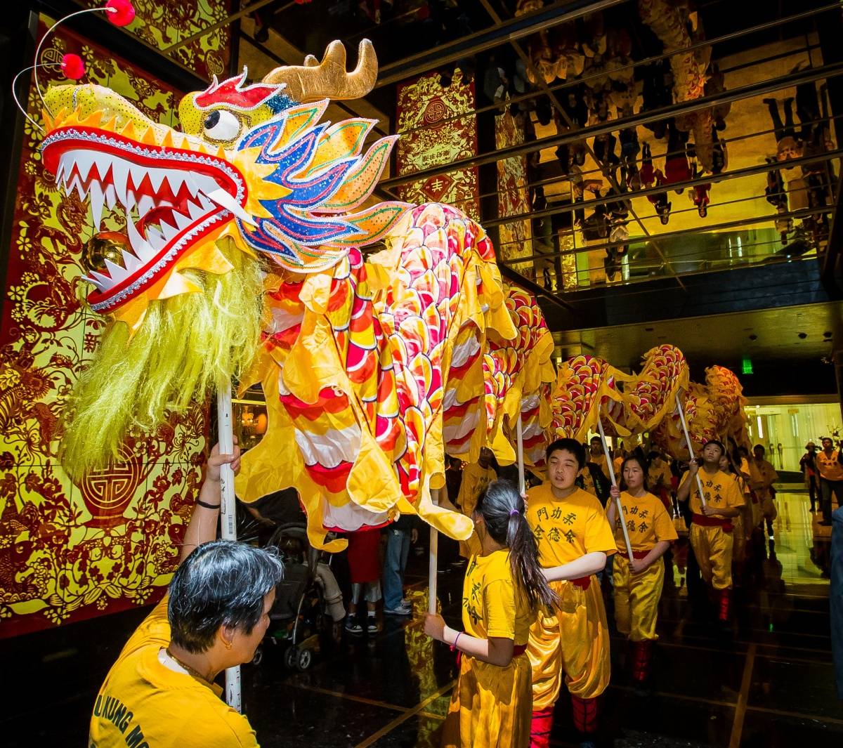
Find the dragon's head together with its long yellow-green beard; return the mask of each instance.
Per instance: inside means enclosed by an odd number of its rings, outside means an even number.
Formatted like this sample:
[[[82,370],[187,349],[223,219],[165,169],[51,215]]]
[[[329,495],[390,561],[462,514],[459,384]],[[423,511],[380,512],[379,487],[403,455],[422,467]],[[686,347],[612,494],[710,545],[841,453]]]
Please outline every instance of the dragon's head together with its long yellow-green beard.
[[[95,231],[105,209],[126,216],[124,232],[107,233],[104,264],[84,276],[90,306],[112,323],[67,409],[68,472],[105,462],[128,431],[151,430],[244,374],[259,348],[267,267],[329,270],[400,220],[404,203],[360,207],[395,137],[364,150],[375,120],[319,121],[331,99],[368,93],[377,69],[363,40],[347,72],[336,41],[322,61],[309,56],[260,83],[245,71],[215,78],[182,99],[182,131],[109,88],[47,91],[45,168],[89,202]]]

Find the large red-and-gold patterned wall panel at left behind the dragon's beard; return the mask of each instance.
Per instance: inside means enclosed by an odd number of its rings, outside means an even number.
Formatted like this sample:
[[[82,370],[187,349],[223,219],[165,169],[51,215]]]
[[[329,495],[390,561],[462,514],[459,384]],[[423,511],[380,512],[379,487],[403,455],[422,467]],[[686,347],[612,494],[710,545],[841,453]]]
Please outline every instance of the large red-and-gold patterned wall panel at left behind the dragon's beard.
[[[42,19],[41,33],[51,24]],[[40,61],[83,57],[86,82],[173,125],[180,94],[88,40],[60,31]],[[42,86],[60,72],[42,68]],[[31,88],[27,109],[40,119]],[[79,301],[93,223],[78,195],[41,168],[27,123],[14,205],[0,331],[0,637],[143,605],[175,569],[204,462],[207,408],[154,434],[134,434],[122,459],[73,484],[57,459],[72,383],[104,320]],[[105,216],[103,230],[119,228]]]

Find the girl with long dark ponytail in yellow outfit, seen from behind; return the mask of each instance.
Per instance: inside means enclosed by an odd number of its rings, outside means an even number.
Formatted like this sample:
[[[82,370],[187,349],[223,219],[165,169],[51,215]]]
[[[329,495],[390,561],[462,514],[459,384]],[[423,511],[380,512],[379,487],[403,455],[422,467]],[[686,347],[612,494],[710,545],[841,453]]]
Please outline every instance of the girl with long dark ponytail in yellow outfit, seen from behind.
[[[443,728],[443,746],[529,745],[532,693],[525,653],[538,606],[551,606],[524,499],[506,480],[481,494],[463,585],[464,631],[428,613],[425,632],[458,649],[459,681]]]

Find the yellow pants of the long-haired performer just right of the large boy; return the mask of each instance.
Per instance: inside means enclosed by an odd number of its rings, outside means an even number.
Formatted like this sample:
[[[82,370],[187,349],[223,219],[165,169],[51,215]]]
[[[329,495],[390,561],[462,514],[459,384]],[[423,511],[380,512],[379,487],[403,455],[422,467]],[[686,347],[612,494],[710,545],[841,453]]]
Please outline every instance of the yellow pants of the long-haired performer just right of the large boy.
[[[658,601],[664,585],[664,559],[641,574],[631,574],[625,556],[615,553],[615,623],[634,642],[657,639]]]

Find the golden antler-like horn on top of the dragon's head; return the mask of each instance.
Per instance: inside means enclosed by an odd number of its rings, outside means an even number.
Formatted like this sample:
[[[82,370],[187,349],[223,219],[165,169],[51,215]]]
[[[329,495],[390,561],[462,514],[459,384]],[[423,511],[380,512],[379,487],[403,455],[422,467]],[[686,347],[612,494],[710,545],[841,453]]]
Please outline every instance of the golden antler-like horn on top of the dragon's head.
[[[372,42],[363,39],[357,49],[357,67],[346,71],[346,48],[332,41],[321,62],[313,55],[301,66],[276,67],[264,83],[287,83],[285,93],[300,104],[319,99],[360,99],[374,88],[378,79],[378,57]]]

